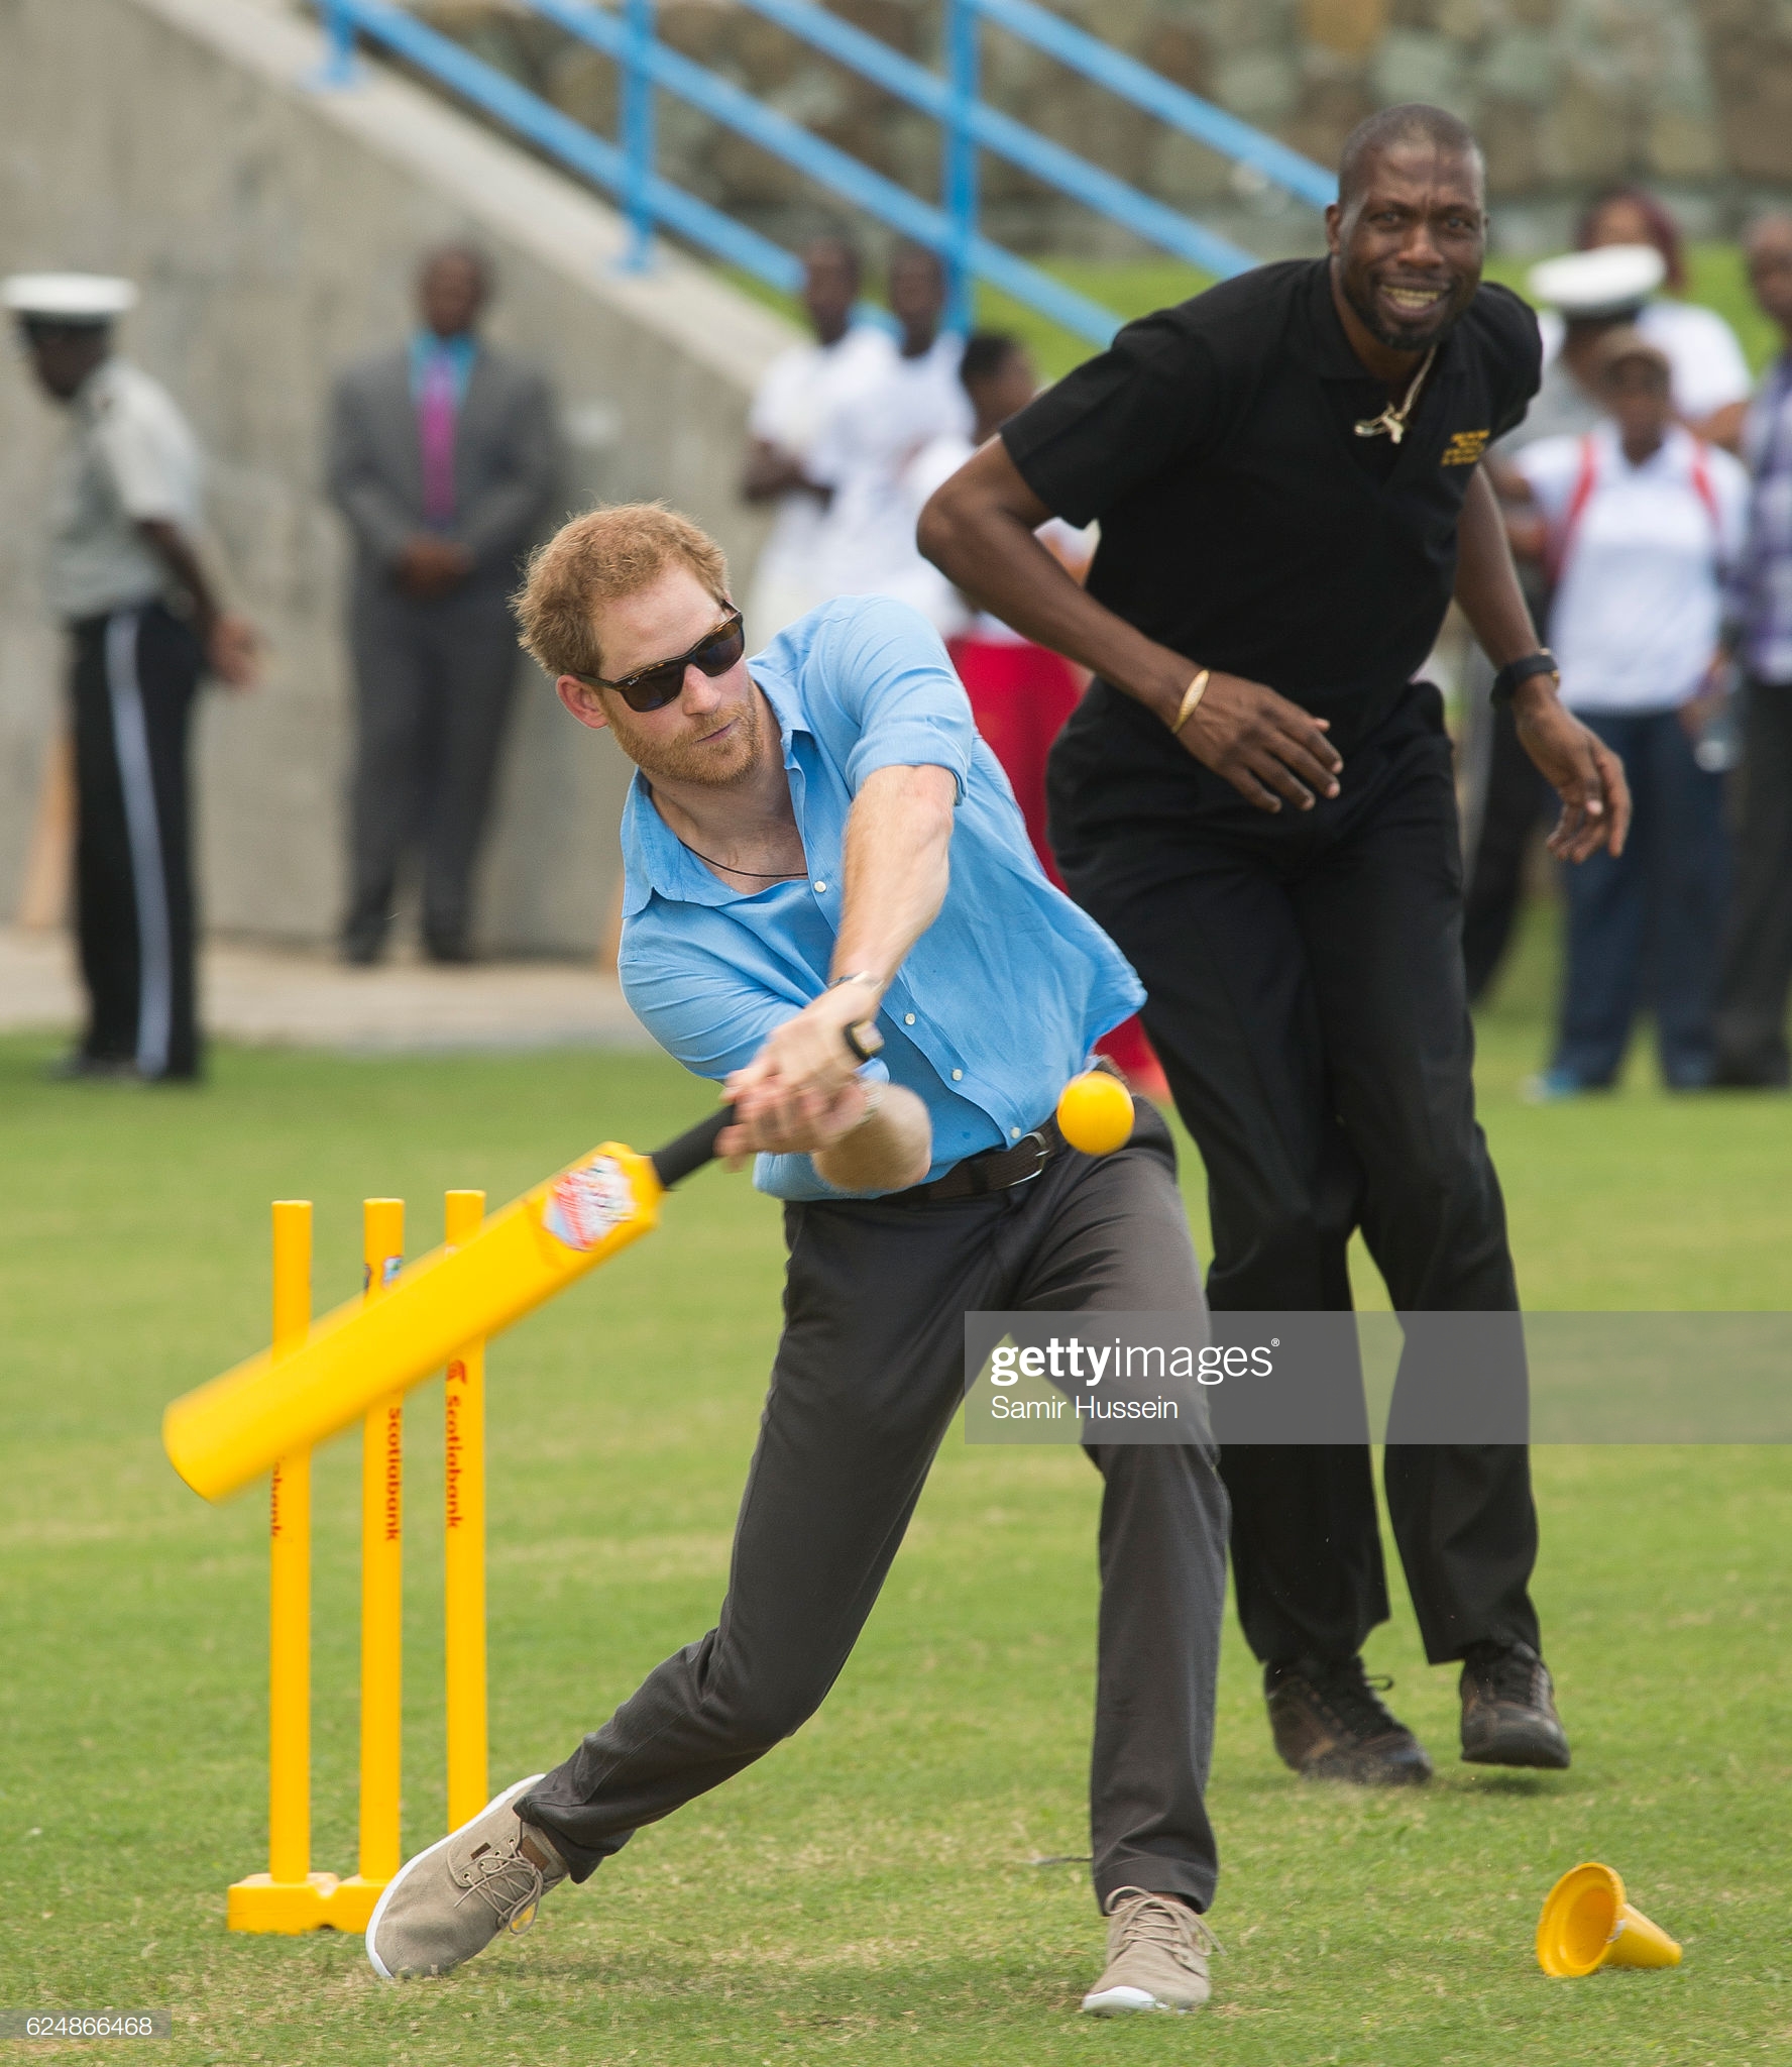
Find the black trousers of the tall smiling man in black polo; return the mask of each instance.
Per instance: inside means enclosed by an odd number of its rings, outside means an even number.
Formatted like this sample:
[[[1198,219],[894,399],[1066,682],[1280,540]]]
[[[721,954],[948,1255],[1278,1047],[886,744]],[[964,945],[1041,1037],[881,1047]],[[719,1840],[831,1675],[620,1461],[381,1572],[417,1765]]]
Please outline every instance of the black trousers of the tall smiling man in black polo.
[[[1443,707],[1416,684],[1310,812],[1253,810],[1199,769],[1120,800],[1054,748],[1052,845],[1131,957],[1145,1031],[1207,1164],[1217,1310],[1348,1308],[1362,1228],[1395,1308],[1517,1306],[1474,1116],[1461,847]],[[1131,802],[1131,808],[1129,808]],[[1399,1385],[1424,1385],[1412,1352]],[[1238,1612],[1271,1662],[1343,1658],[1387,1621],[1366,1449],[1232,1447]],[[1387,1505],[1426,1656],[1538,1641],[1525,1449],[1389,1447]]]

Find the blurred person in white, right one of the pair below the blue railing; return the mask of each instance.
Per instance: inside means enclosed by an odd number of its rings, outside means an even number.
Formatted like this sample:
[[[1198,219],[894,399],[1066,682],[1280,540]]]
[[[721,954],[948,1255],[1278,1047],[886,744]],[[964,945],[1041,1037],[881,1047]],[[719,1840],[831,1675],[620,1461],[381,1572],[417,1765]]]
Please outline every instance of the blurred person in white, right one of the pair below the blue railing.
[[[897,349],[833,409],[810,453],[808,473],[833,490],[818,575],[825,595],[895,595],[934,616],[945,591],[916,552],[916,519],[903,475],[934,438],[971,432],[959,382],[965,341],[940,331],[947,277],[938,258],[905,244],[891,258],[889,304]]]

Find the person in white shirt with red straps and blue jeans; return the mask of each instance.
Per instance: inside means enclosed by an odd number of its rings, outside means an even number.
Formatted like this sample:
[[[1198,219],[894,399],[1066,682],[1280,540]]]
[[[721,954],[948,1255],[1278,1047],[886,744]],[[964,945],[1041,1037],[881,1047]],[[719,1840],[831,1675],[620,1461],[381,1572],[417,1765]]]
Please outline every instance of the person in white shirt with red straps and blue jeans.
[[[1645,974],[1664,1081],[1703,1089],[1713,1071],[1728,856],[1722,775],[1699,765],[1695,738],[1749,477],[1674,424],[1668,356],[1639,331],[1606,339],[1598,382],[1610,424],[1544,438],[1513,461],[1534,498],[1515,519],[1517,542],[1540,535],[1556,577],[1550,643],[1563,703],[1623,759],[1635,800],[1625,852],[1567,874],[1556,1048],[1532,1085],[1542,1100],[1616,1079]]]

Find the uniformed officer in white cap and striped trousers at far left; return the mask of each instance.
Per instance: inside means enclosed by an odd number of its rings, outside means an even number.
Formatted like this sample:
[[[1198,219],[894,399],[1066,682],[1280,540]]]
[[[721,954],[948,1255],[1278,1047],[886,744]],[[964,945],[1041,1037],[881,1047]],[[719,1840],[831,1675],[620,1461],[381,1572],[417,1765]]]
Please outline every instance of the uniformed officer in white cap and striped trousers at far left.
[[[254,678],[252,628],[198,562],[200,459],[163,387],[116,358],[126,279],[19,273],[0,304],[70,415],[50,604],[72,639],[74,891],[89,1017],[68,1077],[198,1075],[188,719],[200,678]]]

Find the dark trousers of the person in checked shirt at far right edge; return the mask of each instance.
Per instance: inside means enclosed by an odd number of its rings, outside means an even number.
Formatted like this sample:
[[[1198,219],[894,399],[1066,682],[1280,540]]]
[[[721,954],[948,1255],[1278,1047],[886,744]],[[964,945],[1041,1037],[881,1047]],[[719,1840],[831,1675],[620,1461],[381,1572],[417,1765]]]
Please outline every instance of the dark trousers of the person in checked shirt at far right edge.
[[[1742,697],[1742,810],[1718,976],[1718,1079],[1786,1083],[1792,988],[1792,682]]]

